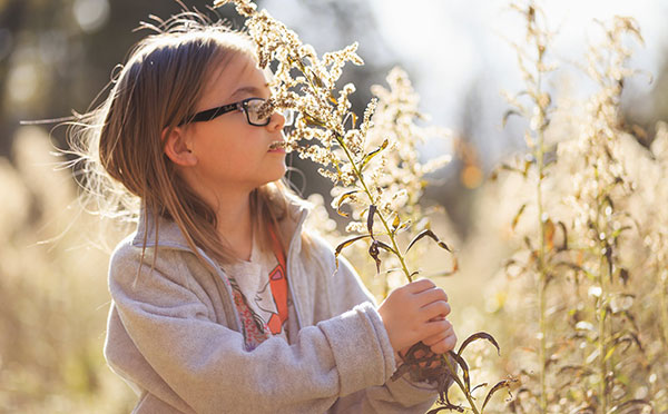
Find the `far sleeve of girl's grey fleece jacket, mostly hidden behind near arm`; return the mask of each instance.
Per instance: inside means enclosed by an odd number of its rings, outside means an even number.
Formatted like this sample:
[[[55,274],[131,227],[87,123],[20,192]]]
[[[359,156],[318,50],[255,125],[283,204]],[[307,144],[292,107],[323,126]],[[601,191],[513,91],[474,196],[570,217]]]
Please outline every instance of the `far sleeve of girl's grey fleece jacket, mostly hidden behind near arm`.
[[[344,313],[358,304],[366,303],[373,312],[381,318],[376,310],[376,303],[373,295],[364,287],[360,276],[344,257],[338,256],[338,269],[334,262],[334,253],[330,245],[318,238],[321,247],[328,252],[328,257],[321,262],[325,267],[325,273],[331,275],[328,283],[328,296],[331,312],[333,315]],[[382,319],[381,319],[382,321]],[[381,323],[379,339],[383,347],[390,347],[390,337],[385,326]],[[394,349],[392,349],[394,355]],[[394,357],[390,376],[396,369]],[[434,404],[438,397],[438,391],[428,383],[415,383],[403,376],[396,381],[385,378],[385,382],[379,386],[370,386],[354,394],[340,398],[331,413],[425,413]]]

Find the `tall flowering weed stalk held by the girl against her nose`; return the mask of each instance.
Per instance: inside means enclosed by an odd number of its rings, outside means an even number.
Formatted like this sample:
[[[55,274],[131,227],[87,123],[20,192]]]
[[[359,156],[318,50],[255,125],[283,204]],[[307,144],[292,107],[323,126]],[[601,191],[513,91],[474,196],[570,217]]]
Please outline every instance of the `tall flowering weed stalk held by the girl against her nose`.
[[[418,243],[431,239],[436,246],[451,252],[450,247],[430,228],[414,234],[407,245],[400,243],[399,235],[409,231],[413,223],[407,218],[410,214],[404,213],[399,206],[409,206],[410,209],[411,206],[416,205],[416,201],[406,204],[405,199],[416,200],[419,197],[409,194],[411,189],[402,188],[394,179],[386,179],[400,172],[400,165],[389,165],[389,160],[401,160],[389,156],[389,152],[391,148],[396,150],[396,146],[401,145],[404,138],[402,132],[411,134],[413,127],[411,118],[415,114],[409,112],[407,125],[406,117],[401,110],[390,119],[383,120],[383,124],[403,121],[403,126],[377,124],[372,121],[372,117],[376,112],[379,100],[373,99],[358,121],[348,101],[348,96],[355,91],[355,86],[353,83],[344,85],[342,88],[336,86],[346,62],[363,65],[362,59],[356,55],[357,45],[325,53],[320,58],[311,46],[303,45],[295,32],[272,18],[266,10],[257,11],[252,1],[222,0],[216,1],[214,7],[227,2],[234,3],[237,12],[247,18],[245,26],[257,45],[259,66],[264,68],[269,63],[276,65],[271,82],[272,99],[265,109],[268,111],[273,108],[291,108],[298,112],[295,127],[287,138],[287,148],[297,151],[303,158],[320,164],[322,167],[318,171],[332,179],[335,186],[343,188],[334,201],[338,214],[348,215],[343,210],[345,205],[356,210],[356,219],[352,226],[361,234],[341,243],[335,248],[336,258],[344,248],[366,241],[367,253],[375,263],[376,273],[380,273],[382,262],[389,254],[397,260],[399,272],[410,283],[420,272],[411,268],[406,255]],[[390,134],[383,137],[380,144],[375,142],[370,147],[367,138],[370,135],[373,136],[371,131],[374,128],[387,127],[399,131],[396,141],[391,142]],[[372,162],[374,160],[380,162]],[[449,384],[453,381],[464,394],[470,410],[477,414],[482,413],[489,397],[507,386],[510,381],[498,383],[490,390],[483,406],[480,410],[477,407],[471,395],[473,388],[470,386],[469,366],[461,353],[468,344],[479,339],[488,339],[498,347],[495,339],[487,333],[470,336],[462,343],[458,353],[450,352],[448,355],[434,355],[422,343],[415,344],[404,356],[404,363],[392,379],[409,374],[413,379],[432,382],[438,385],[442,396],[442,406],[435,410],[461,411],[464,408],[450,404],[445,395]],[[462,369],[462,377],[459,376],[456,366]]]

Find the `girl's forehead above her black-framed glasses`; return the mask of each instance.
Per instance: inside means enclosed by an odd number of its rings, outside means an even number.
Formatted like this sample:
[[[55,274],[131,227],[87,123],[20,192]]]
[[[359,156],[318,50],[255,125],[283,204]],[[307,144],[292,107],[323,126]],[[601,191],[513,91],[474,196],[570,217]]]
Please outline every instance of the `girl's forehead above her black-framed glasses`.
[[[248,97],[268,98],[265,72],[256,60],[242,51],[214,59],[207,71],[200,106],[219,106]]]

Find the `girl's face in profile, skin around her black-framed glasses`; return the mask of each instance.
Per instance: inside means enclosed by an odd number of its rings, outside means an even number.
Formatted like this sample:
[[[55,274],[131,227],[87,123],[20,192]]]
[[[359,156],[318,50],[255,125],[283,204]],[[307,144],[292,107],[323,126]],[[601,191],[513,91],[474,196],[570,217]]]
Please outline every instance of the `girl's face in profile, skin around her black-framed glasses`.
[[[269,98],[264,72],[253,58],[234,56],[222,68],[213,68],[205,82],[197,112],[247,98]],[[196,157],[193,178],[197,187],[250,191],[275,181],[286,171],[285,150],[269,150],[272,142],[283,141],[285,117],[273,114],[263,127],[248,124],[246,114],[233,110],[212,120],[188,126],[189,150]],[[222,200],[224,201],[224,200]]]

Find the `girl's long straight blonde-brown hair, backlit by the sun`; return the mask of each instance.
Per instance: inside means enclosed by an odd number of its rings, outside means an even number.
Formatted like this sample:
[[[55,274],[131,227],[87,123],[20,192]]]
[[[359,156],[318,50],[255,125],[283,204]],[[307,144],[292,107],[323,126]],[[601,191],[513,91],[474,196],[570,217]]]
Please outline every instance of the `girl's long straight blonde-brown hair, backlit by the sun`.
[[[163,217],[176,223],[207,267],[197,247],[219,264],[234,263],[238,258],[218,236],[214,209],[186,185],[164,154],[163,131],[168,135],[194,114],[214,66],[222,68],[240,55],[257,60],[254,48],[245,34],[196,11],[158,22],[143,23],[156,33],[134,47],[104,103],[70,128],[70,147],[84,161],[82,184],[104,200],[100,209],[107,215],[136,218],[140,200],[156,219],[156,241],[158,217]],[[271,246],[266,226],[277,225],[287,213],[288,191],[285,184],[274,181],[252,193],[253,225],[263,249]],[[147,237],[148,231],[143,258]],[[307,248],[306,234],[302,238]],[[286,240],[281,241],[285,248]]]

